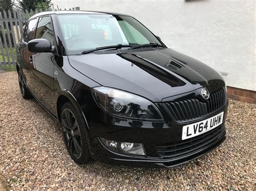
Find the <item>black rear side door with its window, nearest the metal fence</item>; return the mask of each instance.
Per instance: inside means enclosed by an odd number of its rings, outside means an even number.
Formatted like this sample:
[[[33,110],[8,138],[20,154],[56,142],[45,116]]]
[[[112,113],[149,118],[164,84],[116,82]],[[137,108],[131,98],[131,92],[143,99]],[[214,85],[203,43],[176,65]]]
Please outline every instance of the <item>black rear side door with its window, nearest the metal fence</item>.
[[[31,19],[26,24],[23,38],[18,44],[18,63],[21,65],[21,70],[24,76],[24,80],[26,82],[26,86],[28,86],[29,89],[31,89],[31,76],[30,71],[33,67],[33,63],[31,62],[32,55],[35,53],[28,51],[28,41],[35,38],[36,33],[36,24],[37,24],[37,18]]]

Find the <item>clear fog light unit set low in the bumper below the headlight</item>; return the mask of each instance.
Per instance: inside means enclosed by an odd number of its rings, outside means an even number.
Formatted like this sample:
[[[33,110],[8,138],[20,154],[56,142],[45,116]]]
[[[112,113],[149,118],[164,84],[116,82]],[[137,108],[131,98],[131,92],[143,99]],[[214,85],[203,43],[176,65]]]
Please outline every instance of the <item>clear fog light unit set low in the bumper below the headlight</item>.
[[[117,142],[116,140],[107,140],[100,138],[104,145],[110,150],[118,153],[134,154],[134,155],[146,155],[144,146],[142,143],[126,143]]]

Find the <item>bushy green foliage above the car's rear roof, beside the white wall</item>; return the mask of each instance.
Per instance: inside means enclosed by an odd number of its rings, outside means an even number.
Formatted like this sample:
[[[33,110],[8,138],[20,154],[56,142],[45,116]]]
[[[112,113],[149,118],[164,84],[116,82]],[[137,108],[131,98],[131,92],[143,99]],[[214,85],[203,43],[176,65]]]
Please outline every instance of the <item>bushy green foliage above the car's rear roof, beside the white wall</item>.
[[[19,5],[21,8],[25,10],[33,10],[36,9],[43,9],[44,11],[52,10],[51,0],[18,0]]]

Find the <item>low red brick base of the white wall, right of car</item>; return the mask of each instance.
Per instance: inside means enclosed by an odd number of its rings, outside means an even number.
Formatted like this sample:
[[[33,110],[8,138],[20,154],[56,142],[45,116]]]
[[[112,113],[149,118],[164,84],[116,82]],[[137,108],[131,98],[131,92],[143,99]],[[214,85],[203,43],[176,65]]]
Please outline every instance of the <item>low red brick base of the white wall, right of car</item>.
[[[256,91],[227,87],[227,96],[233,100],[239,100],[248,103],[256,103]]]

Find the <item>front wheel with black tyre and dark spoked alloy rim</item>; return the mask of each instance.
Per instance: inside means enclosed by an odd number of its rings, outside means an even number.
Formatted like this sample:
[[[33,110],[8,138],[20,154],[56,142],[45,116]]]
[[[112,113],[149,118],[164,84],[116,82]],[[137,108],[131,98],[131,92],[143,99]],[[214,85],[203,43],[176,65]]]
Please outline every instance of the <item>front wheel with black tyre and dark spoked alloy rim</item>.
[[[60,115],[62,134],[71,158],[78,164],[90,161],[88,133],[83,115],[73,107],[71,102],[64,103]]]

